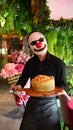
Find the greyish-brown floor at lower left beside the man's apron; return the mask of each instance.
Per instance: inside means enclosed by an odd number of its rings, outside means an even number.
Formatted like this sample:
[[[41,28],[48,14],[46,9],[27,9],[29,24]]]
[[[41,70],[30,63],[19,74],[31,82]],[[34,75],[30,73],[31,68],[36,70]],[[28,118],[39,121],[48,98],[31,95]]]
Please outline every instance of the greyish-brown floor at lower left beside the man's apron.
[[[7,81],[0,80],[0,130],[19,130],[22,110],[16,106],[9,93]]]

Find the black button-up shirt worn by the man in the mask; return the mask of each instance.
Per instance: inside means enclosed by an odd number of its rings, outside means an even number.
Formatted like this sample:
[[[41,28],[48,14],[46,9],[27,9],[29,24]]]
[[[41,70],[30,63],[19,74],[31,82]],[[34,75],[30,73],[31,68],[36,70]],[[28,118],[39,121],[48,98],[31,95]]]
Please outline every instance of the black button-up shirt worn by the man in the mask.
[[[26,62],[17,85],[24,87],[29,78],[32,79],[39,74],[54,76],[55,86],[64,89],[66,88],[65,63],[48,52],[46,59],[42,62],[39,60],[37,55],[34,55]]]

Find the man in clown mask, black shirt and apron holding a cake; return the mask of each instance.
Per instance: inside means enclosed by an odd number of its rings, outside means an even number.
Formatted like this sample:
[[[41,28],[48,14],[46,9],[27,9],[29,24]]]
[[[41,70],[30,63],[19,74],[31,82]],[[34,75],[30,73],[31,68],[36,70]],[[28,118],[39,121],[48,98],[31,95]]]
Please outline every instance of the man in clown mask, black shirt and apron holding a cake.
[[[29,78],[39,74],[54,76],[55,86],[65,89],[65,64],[47,51],[44,35],[38,31],[31,32],[27,41],[34,56],[27,61],[15,89],[24,87]],[[30,96],[20,130],[61,130],[56,98]]]

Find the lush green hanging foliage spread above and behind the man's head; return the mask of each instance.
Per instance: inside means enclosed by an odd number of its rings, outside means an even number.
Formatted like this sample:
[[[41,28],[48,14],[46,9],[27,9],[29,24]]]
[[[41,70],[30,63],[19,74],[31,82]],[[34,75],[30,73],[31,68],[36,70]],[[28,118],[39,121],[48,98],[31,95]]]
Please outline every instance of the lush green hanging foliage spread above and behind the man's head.
[[[73,64],[73,19],[50,20],[46,0],[1,0],[0,7],[0,15],[6,20],[1,32],[27,36],[33,30],[40,31],[47,39],[48,50],[67,66]]]

